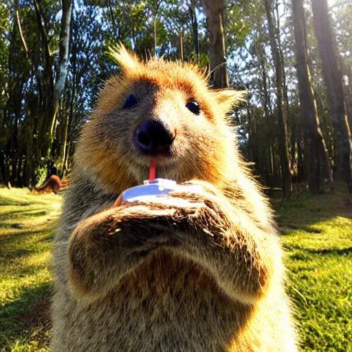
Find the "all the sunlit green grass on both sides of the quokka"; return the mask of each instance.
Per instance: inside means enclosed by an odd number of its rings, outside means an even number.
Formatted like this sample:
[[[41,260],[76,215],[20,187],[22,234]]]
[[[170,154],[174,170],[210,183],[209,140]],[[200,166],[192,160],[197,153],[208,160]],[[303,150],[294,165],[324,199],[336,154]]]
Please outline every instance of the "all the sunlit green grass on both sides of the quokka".
[[[277,213],[303,351],[352,351],[346,199],[342,193],[292,197]],[[50,249],[60,207],[61,196],[0,188],[0,351],[47,351]]]

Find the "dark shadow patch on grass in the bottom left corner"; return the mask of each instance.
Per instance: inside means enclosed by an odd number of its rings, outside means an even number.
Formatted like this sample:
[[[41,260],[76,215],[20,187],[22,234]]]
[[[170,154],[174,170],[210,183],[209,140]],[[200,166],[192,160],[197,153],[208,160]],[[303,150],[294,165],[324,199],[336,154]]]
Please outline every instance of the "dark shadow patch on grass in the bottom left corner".
[[[17,340],[34,341],[39,347],[48,345],[51,291],[49,283],[23,289],[21,296],[1,307],[1,351],[10,351],[9,346]]]

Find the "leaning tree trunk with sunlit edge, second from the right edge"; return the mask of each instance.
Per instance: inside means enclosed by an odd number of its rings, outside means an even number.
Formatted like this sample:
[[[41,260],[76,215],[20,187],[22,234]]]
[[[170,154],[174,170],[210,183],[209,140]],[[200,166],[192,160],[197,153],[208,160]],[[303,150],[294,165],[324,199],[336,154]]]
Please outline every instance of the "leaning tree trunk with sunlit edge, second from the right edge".
[[[296,41],[296,69],[300,96],[300,127],[305,136],[305,157],[307,157],[309,190],[312,193],[324,191],[324,178],[330,179],[331,166],[316,109],[314,91],[307,59],[305,34],[305,12],[303,0],[293,0],[294,35]],[[330,180],[332,182],[332,180]]]

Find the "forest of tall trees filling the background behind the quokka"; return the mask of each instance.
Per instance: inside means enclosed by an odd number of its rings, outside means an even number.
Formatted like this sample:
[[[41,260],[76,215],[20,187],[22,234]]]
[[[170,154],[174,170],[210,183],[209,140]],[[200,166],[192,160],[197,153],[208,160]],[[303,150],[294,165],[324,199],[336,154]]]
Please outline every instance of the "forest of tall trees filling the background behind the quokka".
[[[341,177],[352,192],[352,3],[349,0],[3,0],[2,181],[63,177],[104,82],[109,47],[200,65],[212,87],[248,91],[230,116],[268,188],[314,193]]]

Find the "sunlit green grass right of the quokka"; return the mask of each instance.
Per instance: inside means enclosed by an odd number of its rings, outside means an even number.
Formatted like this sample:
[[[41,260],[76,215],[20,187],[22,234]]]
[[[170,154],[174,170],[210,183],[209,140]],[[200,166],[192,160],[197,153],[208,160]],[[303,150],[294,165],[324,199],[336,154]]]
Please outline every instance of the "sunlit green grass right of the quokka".
[[[352,351],[352,206],[347,195],[287,201],[278,212],[302,351]]]

